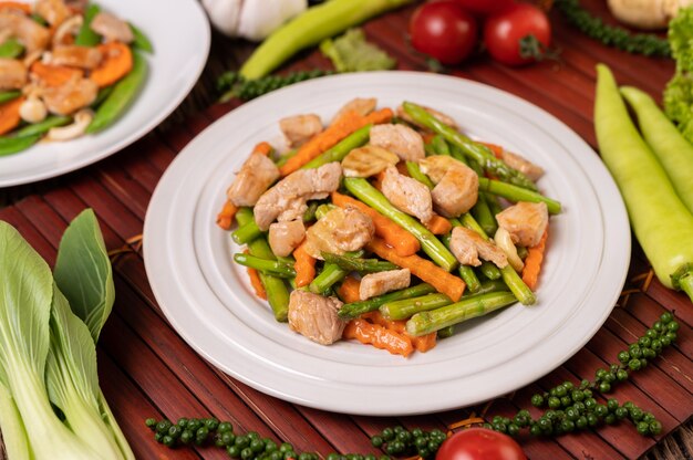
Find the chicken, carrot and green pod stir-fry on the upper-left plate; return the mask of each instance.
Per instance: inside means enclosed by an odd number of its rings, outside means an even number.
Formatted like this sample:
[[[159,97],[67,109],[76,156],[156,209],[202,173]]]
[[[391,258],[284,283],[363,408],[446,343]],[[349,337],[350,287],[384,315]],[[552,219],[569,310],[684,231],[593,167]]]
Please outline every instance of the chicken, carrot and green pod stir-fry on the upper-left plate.
[[[145,80],[145,35],[85,1],[0,0],[0,156],[97,133]]]

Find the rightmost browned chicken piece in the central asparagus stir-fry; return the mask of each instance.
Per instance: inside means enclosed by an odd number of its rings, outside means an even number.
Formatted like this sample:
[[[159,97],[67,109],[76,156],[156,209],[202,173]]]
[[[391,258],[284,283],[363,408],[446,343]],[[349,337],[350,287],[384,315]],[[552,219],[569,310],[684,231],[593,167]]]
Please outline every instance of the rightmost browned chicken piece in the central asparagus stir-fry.
[[[519,201],[498,212],[496,220],[510,233],[515,244],[531,248],[549,224],[549,211],[545,202]]]

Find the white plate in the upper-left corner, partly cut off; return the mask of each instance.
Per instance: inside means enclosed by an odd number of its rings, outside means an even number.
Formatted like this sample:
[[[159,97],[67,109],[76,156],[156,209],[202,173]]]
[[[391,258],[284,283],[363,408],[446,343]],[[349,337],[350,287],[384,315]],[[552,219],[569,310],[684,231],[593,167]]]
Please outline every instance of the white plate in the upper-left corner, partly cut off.
[[[152,130],[193,88],[209,54],[209,22],[197,0],[100,0],[106,11],[137,25],[154,54],[139,95],[111,127],[65,143],[40,143],[0,157],[0,187],[33,182],[91,165]]]

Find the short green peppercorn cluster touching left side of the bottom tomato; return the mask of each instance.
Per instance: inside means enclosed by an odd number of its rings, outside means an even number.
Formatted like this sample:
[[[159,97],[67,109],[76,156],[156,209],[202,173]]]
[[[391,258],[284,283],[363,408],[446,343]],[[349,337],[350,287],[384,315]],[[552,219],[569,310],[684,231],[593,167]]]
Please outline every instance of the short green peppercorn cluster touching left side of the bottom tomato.
[[[408,431],[404,427],[385,428],[380,435],[371,437],[373,447],[383,449],[389,456],[432,458],[445,440],[443,431],[431,431],[414,428]],[[337,459],[334,459],[337,460]]]

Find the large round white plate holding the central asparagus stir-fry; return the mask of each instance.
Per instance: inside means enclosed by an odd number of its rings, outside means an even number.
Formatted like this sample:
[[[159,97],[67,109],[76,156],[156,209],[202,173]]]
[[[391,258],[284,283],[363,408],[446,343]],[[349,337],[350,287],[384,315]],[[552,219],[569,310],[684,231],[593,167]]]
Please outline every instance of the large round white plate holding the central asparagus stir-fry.
[[[297,113],[329,119],[355,96],[404,100],[452,115],[470,136],[544,166],[540,188],[563,205],[551,218],[538,303],[457,327],[405,359],[351,342],[317,345],[275,322],[235,247],[215,224],[225,190],[252,146]],[[164,174],[144,228],[154,294],[178,333],[246,384],[292,402],[361,415],[411,415],[480,402],[546,375],[608,317],[623,284],[630,231],[621,197],[592,149],[540,108],[461,79],[389,72],[331,76],[277,91],[227,114]]]

